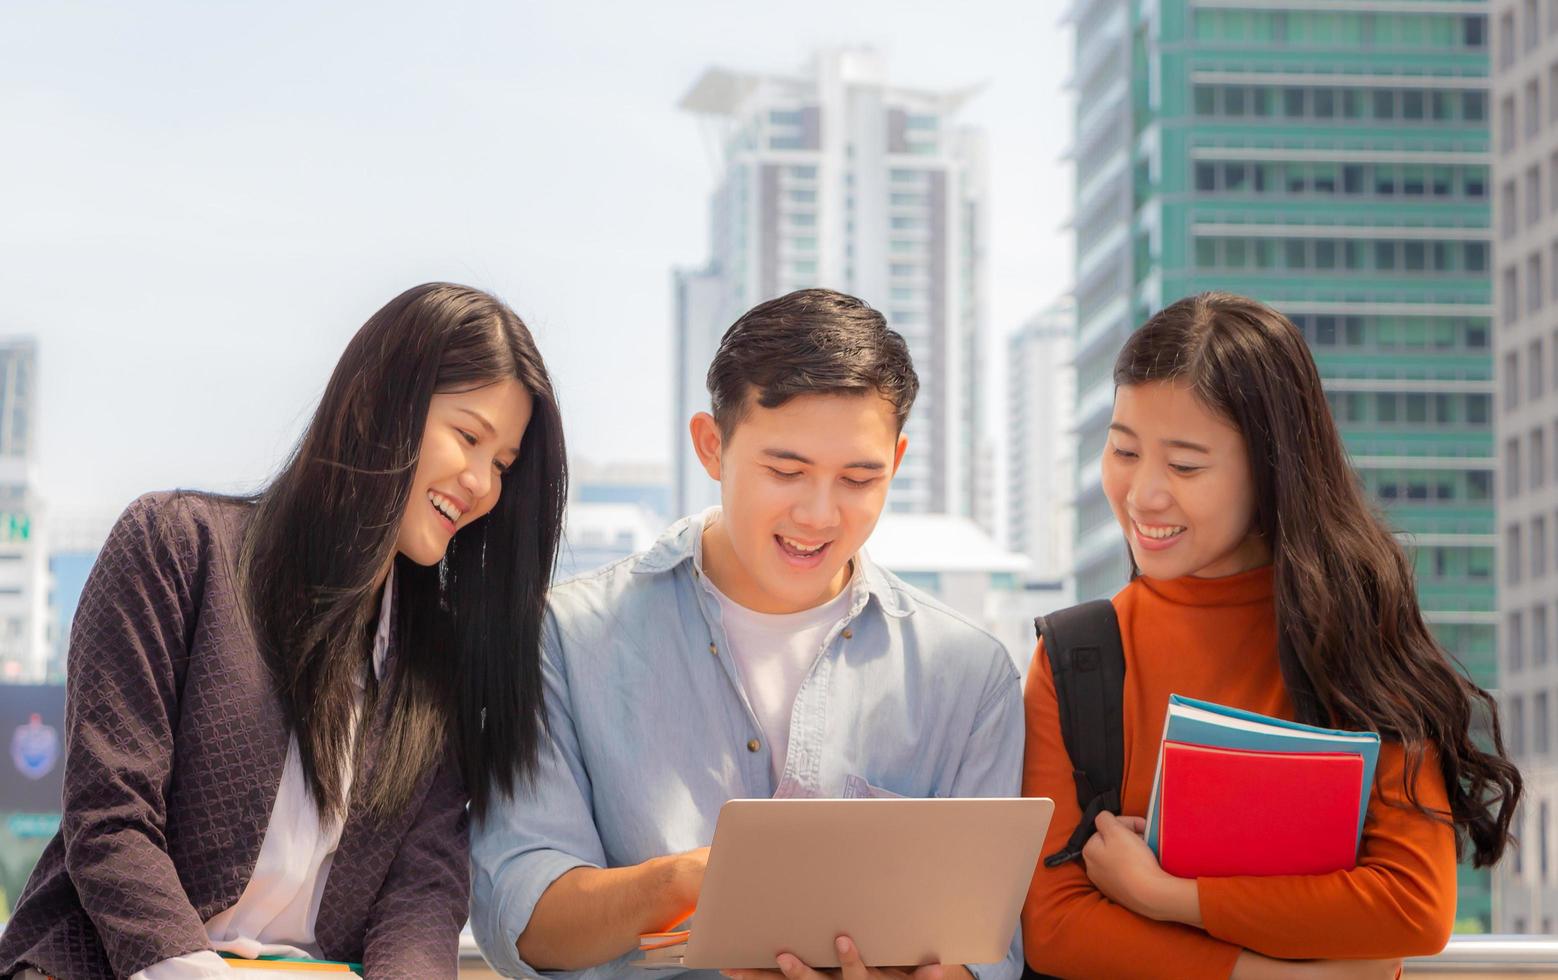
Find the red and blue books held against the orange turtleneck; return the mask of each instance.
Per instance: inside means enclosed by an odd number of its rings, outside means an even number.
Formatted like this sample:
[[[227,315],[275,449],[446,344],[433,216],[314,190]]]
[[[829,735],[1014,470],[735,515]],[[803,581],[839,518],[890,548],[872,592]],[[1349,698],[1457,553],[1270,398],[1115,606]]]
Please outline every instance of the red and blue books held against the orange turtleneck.
[[[1379,735],[1170,695],[1147,843],[1175,877],[1352,868]]]

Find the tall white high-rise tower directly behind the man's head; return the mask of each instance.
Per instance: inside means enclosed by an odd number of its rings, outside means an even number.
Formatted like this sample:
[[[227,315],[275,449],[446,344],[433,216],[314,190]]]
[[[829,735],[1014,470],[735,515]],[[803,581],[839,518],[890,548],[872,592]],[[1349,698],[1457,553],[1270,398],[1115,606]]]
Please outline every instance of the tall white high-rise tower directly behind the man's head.
[[[989,523],[985,146],[957,123],[971,92],[891,86],[876,53],[827,50],[798,75],[709,69],[682,98],[720,174],[709,263],[676,276],[679,509],[714,495],[686,444],[718,338],[748,307],[820,285],[882,310],[915,357],[919,400],[888,509]]]

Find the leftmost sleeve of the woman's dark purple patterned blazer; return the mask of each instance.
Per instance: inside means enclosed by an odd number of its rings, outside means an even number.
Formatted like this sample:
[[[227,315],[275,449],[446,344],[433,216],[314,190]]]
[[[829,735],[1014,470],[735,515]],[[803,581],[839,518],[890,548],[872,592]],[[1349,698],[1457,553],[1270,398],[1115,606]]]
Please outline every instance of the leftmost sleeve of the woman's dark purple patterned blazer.
[[[156,503],[114,525],[81,594],[65,700],[65,866],[117,975],[207,949],[168,857],[178,676],[198,572]]]

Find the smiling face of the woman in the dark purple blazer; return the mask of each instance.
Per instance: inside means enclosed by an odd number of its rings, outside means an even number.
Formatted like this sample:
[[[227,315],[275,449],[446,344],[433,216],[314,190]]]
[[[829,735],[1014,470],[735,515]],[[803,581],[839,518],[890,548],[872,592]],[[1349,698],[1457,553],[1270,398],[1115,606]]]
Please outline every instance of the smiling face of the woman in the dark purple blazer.
[[[396,538],[400,555],[438,564],[455,531],[497,505],[530,411],[530,393],[514,379],[433,396]]]

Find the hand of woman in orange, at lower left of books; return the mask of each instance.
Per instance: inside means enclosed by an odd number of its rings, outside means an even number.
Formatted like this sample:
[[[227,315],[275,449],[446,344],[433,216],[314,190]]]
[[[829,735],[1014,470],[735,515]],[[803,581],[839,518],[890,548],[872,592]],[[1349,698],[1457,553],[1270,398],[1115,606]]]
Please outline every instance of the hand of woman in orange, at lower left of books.
[[[1097,834],[1083,844],[1087,879],[1111,902],[1162,922],[1201,925],[1201,899],[1193,879],[1175,877],[1147,846],[1140,816],[1098,813]]]

